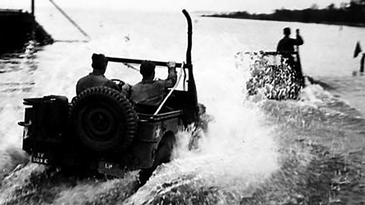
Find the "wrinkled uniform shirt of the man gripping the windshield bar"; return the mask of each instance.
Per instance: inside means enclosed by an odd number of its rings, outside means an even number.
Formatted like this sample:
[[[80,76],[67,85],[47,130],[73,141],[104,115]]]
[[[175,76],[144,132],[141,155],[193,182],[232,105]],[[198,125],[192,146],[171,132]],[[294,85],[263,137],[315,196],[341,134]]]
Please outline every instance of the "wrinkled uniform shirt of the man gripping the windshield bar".
[[[138,104],[160,105],[166,95],[166,88],[172,88],[177,81],[174,67],[169,68],[166,80],[145,80],[135,84],[131,88],[130,100]]]

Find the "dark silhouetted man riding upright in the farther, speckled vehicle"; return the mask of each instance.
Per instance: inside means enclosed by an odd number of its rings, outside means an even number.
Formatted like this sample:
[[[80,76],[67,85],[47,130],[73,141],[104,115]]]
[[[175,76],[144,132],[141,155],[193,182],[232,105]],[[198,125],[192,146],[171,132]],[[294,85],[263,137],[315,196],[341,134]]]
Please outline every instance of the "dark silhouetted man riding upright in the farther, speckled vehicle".
[[[304,41],[299,35],[299,29],[296,30],[296,39],[290,38],[290,34],[290,28],[284,28],[284,38],[277,44],[276,51],[294,51],[294,46],[303,45]]]

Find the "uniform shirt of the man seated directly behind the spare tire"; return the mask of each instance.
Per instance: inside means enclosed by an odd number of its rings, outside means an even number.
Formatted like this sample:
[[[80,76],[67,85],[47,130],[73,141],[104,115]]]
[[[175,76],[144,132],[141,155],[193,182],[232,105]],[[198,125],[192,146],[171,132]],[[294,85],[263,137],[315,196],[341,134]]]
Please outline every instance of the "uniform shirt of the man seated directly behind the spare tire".
[[[87,76],[84,76],[77,81],[76,94],[78,95],[82,91],[88,88],[97,86],[106,86],[119,91],[118,86],[113,81],[106,78],[104,75],[96,75],[94,73],[89,73]]]

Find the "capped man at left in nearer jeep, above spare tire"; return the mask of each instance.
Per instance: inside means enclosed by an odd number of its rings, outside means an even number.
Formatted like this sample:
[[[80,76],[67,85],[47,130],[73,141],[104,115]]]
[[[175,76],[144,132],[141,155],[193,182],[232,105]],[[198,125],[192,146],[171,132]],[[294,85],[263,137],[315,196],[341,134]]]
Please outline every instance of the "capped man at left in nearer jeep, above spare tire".
[[[89,73],[87,76],[84,76],[77,81],[76,94],[78,95],[88,88],[97,86],[106,86],[120,91],[120,88],[117,84],[104,76],[105,70],[107,69],[108,65],[108,60],[105,55],[93,54],[91,59],[91,67],[93,68],[93,71],[92,73]]]

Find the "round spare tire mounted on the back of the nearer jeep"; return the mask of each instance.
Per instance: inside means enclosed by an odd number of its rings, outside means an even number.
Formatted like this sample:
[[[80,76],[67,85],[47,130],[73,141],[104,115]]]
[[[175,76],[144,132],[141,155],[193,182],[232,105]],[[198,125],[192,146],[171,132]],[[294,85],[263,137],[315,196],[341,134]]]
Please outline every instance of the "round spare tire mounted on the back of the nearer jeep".
[[[94,151],[124,152],[137,130],[137,113],[117,90],[93,87],[72,99],[70,121],[76,139]]]

